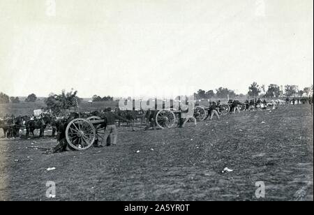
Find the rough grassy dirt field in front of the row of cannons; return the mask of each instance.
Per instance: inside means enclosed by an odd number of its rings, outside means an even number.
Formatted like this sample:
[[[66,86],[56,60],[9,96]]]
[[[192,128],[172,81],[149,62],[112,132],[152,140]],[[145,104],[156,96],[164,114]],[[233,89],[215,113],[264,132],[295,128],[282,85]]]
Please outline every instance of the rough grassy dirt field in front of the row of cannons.
[[[0,140],[0,200],[313,200],[309,105],[196,127],[121,128],[116,147],[51,155],[27,148],[55,144]],[[233,172],[223,174],[225,167]],[[45,197],[47,181],[56,183],[56,198]],[[256,181],[264,181],[265,198],[255,197]]]

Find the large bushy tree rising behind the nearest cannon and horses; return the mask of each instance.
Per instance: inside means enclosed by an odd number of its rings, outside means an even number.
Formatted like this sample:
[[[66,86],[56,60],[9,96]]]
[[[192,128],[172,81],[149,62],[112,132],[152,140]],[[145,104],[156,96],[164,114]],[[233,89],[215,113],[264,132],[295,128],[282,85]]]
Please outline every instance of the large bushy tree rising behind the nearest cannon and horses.
[[[77,103],[80,104],[81,98],[77,97],[77,91],[62,91],[61,94],[50,94],[48,98],[45,99],[45,104],[48,109],[51,109],[54,113],[63,113],[70,107],[76,107]]]

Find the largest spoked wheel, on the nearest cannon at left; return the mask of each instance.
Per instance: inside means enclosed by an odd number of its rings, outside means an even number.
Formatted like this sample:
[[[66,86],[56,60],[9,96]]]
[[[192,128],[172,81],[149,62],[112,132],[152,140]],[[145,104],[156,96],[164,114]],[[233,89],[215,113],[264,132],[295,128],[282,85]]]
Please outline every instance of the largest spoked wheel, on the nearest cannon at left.
[[[73,149],[88,149],[96,140],[96,129],[87,119],[73,119],[66,126],[66,140]]]

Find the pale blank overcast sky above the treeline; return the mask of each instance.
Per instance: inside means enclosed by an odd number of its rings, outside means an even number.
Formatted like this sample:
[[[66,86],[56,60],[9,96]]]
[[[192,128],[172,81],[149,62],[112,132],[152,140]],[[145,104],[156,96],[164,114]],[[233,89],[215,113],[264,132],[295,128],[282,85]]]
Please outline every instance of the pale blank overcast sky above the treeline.
[[[9,96],[313,84],[313,0],[0,0],[0,11]]]

